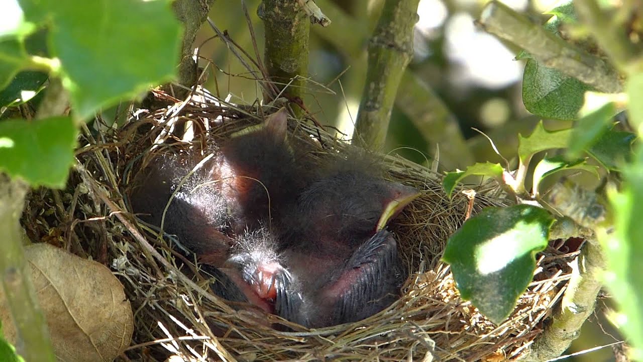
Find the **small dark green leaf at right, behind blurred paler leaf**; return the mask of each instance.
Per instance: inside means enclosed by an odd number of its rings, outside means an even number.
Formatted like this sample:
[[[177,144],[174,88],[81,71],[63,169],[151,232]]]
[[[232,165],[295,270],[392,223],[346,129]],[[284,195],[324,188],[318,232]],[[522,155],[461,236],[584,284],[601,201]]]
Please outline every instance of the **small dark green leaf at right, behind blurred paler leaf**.
[[[617,170],[631,159],[632,142],[636,138],[634,133],[610,129],[602,133],[586,151],[606,169]]]

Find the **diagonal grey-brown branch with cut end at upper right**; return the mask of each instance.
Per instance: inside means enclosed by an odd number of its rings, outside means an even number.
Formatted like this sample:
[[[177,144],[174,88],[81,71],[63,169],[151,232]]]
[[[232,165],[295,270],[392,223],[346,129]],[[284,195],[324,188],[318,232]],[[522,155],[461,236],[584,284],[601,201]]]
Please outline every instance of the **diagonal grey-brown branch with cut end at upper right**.
[[[619,73],[610,64],[566,43],[507,5],[491,1],[482,10],[478,24],[500,39],[520,46],[545,66],[579,79],[599,91],[618,93],[623,90]]]

